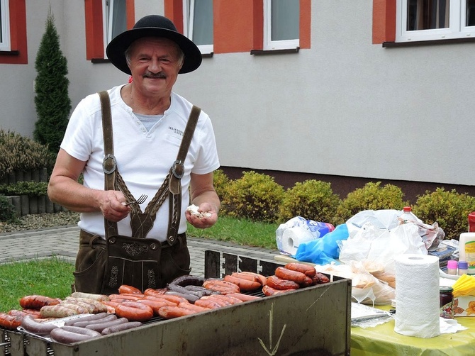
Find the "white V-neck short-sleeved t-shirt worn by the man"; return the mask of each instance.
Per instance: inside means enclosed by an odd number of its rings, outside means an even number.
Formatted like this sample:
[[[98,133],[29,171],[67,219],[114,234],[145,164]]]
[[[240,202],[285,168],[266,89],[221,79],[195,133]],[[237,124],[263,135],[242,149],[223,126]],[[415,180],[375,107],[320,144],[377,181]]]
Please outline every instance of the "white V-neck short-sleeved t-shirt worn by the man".
[[[142,211],[145,211],[145,207],[155,196],[177,159],[192,104],[172,93],[171,105],[164,112],[163,118],[147,130],[122,100],[121,87],[108,90],[111,98],[114,156],[118,172],[135,199],[142,194],[148,195],[147,201],[140,205]],[[99,94],[86,96],[74,109],[61,148],[77,160],[86,162],[83,172],[85,187],[104,189],[104,143]],[[189,206],[190,173],[207,174],[219,167],[213,126],[203,111],[199,116],[184,167],[185,174],[181,178],[179,233],[186,231],[184,211]],[[154,226],[147,234],[148,238],[165,240],[168,211],[167,199],[157,212]],[[104,216],[99,211],[82,213],[78,225],[89,233],[104,237]],[[118,222],[118,233],[130,236],[130,214]]]

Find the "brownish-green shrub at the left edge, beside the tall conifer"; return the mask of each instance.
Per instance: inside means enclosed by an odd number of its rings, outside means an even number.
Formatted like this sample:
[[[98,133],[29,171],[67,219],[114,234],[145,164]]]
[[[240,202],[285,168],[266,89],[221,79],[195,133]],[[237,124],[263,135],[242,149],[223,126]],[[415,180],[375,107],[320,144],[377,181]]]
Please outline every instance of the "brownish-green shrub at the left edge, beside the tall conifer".
[[[0,129],[0,178],[15,171],[33,172],[52,169],[55,155],[41,145],[18,133]]]

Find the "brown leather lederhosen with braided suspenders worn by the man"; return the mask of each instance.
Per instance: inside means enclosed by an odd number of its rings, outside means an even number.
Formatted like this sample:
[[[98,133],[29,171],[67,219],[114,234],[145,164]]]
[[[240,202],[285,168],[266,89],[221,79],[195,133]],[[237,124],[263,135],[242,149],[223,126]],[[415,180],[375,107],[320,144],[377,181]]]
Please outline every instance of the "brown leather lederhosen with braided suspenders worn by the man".
[[[101,98],[104,135],[104,185],[106,190],[121,191],[127,201],[135,201],[118,172],[113,155],[111,103],[107,91]],[[184,160],[193,137],[201,109],[193,106],[183,139],[167,177],[160,189],[142,212],[139,204],[130,204],[132,236],[118,235],[117,223],[104,219],[104,240],[81,230],[79,252],[76,258],[74,282],[76,291],[115,294],[118,287],[128,284],[145,291],[165,287],[172,279],[189,274],[191,269],[186,235],[178,234],[181,215],[181,177]],[[156,213],[169,199],[167,240],[145,238],[153,226]]]

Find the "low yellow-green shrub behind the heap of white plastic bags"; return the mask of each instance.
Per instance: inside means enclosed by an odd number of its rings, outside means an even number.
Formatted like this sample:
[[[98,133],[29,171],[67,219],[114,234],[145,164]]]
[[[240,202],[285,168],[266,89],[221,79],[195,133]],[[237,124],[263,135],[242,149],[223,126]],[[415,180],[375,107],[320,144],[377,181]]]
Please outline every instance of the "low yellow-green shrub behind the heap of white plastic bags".
[[[408,205],[403,201],[404,193],[401,188],[393,184],[386,184],[381,187],[381,182],[369,182],[364,187],[355,189],[347,194],[342,204],[337,208],[337,213],[341,221],[347,221],[359,211],[396,209]]]

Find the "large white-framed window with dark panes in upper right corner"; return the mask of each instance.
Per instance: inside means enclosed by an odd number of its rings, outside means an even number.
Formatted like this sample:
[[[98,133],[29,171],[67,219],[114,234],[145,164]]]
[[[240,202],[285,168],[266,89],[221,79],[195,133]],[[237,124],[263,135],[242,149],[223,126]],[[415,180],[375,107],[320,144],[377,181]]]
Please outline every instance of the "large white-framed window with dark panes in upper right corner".
[[[396,42],[475,36],[475,0],[398,0]]]

